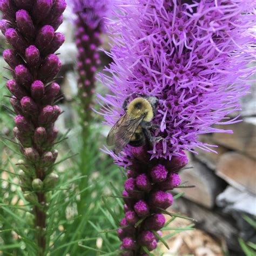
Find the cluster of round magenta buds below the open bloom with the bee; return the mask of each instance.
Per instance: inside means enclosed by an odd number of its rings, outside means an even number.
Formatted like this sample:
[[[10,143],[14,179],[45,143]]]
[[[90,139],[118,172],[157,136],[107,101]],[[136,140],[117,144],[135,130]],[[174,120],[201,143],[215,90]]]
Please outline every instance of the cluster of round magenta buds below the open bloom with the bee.
[[[147,255],[142,247],[153,251],[157,247],[160,229],[165,225],[163,210],[170,207],[173,197],[169,190],[180,185],[177,174],[188,159],[152,159],[144,147],[133,147],[129,156],[129,170],[124,183],[125,218],[117,231],[122,240],[122,255]]]

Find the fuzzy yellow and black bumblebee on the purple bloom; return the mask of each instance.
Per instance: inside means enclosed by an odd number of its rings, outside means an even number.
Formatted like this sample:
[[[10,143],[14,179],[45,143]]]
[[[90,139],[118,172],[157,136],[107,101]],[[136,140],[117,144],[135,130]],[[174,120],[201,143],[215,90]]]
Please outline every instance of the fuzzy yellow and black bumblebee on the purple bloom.
[[[125,99],[123,104],[125,113],[107,135],[107,145],[114,145],[116,153],[122,151],[127,144],[139,147],[149,142],[153,145],[159,139],[153,138],[150,132],[150,129],[158,128],[151,123],[156,114],[158,98],[137,93],[133,93],[132,96],[137,97],[130,103],[130,96]]]

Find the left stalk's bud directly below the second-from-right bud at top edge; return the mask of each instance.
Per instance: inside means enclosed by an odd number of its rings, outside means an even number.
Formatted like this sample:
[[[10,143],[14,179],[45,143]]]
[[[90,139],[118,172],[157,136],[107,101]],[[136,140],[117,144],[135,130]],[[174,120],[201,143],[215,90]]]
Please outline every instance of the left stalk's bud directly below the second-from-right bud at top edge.
[[[54,37],[54,29],[50,25],[43,26],[37,34],[35,44],[39,50],[44,50],[49,46]]]

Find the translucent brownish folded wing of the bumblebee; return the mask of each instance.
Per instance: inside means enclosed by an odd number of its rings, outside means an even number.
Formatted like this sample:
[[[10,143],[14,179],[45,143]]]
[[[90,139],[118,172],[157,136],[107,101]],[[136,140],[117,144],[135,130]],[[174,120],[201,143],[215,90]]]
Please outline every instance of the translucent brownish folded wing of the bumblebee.
[[[114,145],[117,153],[122,151],[122,149],[130,142],[143,118],[144,116],[131,119],[127,113],[123,114],[110,130],[109,135],[107,136],[107,145]]]

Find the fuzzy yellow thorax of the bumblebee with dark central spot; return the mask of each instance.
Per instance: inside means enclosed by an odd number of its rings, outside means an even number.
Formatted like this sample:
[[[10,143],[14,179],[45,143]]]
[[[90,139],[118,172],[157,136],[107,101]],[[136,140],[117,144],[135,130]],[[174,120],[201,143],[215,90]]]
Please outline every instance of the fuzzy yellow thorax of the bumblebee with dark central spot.
[[[146,113],[143,119],[146,122],[150,122],[154,117],[153,109],[151,104],[144,98],[138,97],[133,99],[127,107],[127,114],[132,118],[140,118]]]

